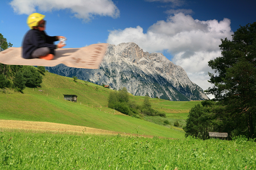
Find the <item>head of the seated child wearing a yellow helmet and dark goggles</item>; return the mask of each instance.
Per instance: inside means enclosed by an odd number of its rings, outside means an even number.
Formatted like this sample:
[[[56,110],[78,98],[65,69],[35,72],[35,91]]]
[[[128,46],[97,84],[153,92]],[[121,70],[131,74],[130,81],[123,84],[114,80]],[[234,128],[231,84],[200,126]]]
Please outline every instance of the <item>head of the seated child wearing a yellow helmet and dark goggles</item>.
[[[27,18],[28,27],[33,29],[45,30],[46,21],[44,20],[45,15],[39,13],[30,14]]]

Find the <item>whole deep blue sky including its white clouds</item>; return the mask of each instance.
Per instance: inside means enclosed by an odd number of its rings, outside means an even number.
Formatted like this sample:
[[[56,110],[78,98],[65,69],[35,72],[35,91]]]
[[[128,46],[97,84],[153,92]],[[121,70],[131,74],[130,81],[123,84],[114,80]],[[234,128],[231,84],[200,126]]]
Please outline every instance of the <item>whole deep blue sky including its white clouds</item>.
[[[48,35],[67,37],[66,48],[135,42],[161,52],[204,90],[211,86],[208,61],[220,56],[220,38],[256,21],[256,1],[3,0],[0,33],[20,47],[27,16],[46,15]]]

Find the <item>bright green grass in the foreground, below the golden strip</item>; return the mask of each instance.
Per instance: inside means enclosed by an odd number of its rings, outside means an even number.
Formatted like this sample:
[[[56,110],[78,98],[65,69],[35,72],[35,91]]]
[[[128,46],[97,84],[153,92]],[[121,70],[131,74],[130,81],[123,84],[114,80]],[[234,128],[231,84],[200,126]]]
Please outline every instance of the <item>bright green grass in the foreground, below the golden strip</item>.
[[[0,132],[1,169],[255,169],[255,142]]]

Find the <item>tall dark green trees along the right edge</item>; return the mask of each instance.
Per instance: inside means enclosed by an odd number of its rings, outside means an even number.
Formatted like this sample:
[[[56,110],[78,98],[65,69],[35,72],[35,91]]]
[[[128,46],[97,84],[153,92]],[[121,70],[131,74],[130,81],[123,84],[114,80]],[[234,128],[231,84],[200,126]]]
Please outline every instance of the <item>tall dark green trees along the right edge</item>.
[[[256,22],[241,26],[232,35],[232,41],[225,38],[221,42],[221,56],[208,62],[214,70],[209,73],[209,82],[214,85],[206,90],[207,94],[214,95],[219,109],[212,109],[206,121],[214,125],[216,132],[255,138]],[[201,109],[207,113],[204,106]],[[187,124],[187,134],[191,134],[190,129]]]

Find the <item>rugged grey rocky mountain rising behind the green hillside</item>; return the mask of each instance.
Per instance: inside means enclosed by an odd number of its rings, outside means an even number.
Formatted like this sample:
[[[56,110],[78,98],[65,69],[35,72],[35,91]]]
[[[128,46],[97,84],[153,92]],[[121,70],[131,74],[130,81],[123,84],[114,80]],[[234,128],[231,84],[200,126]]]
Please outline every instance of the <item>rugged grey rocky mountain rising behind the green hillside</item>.
[[[46,69],[117,90],[126,87],[129,93],[137,96],[172,101],[208,99],[204,91],[189,80],[182,67],[173,64],[162,53],[144,52],[135,43],[110,44],[99,69],[70,68],[63,64]]]

